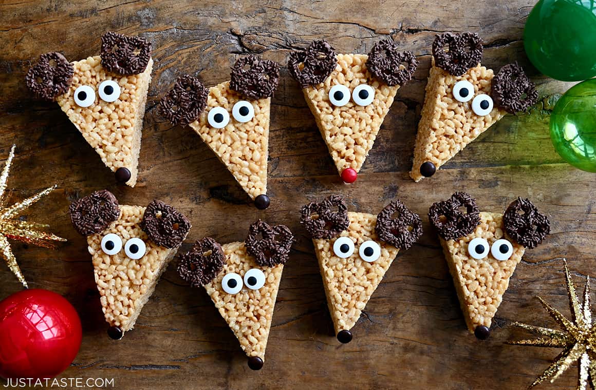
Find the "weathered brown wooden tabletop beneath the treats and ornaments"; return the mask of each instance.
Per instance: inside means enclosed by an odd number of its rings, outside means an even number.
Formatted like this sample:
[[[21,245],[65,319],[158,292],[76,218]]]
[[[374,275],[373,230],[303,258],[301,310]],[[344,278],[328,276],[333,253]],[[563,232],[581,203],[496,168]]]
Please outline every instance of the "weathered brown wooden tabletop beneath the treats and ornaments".
[[[18,200],[51,185],[59,188],[27,217],[51,223],[69,240],[58,251],[14,244],[32,287],[66,296],[83,322],[83,344],[63,377],[114,377],[118,389],[191,388],[428,388],[522,389],[548,367],[556,349],[505,345],[524,333],[511,320],[556,327],[539,294],[569,316],[562,257],[578,282],[596,273],[595,176],[563,164],[548,136],[548,101],[569,85],[529,68],[522,32],[533,0],[321,1],[106,1],[27,2],[0,5],[0,157],[17,144],[9,188]],[[143,131],[140,182],[113,183],[113,175],[56,104],[36,101],[24,86],[32,60],[50,50],[79,60],[99,52],[107,30],[153,42],[154,73]],[[432,179],[408,177],[415,131],[436,32],[472,30],[485,39],[483,64],[498,69],[519,61],[539,85],[542,110],[507,116]],[[258,211],[231,174],[190,128],[172,127],[156,104],[175,77],[198,75],[206,85],[228,79],[238,55],[262,54],[285,65],[293,48],[326,38],[339,52],[366,53],[381,38],[413,51],[420,68],[398,92],[392,110],[355,185],[340,183],[297,83],[281,71],[272,100],[269,195]],[[203,289],[190,289],[174,267],[163,275],[135,330],[111,341],[95,288],[85,239],[72,229],[69,202],[97,189],[113,191],[122,204],[147,205],[153,198],[179,207],[193,229],[184,249],[211,235],[242,240],[249,224],[263,218],[296,234],[284,270],[266,363],[251,372],[246,357]],[[454,191],[476,196],[481,210],[502,211],[527,196],[552,221],[552,234],[527,251],[495,319],[491,339],[478,341],[465,329],[452,279],[436,235],[426,219],[432,202]],[[299,226],[300,205],[343,194],[349,209],[378,213],[399,197],[424,216],[425,233],[398,260],[340,345],[333,336],[311,241]],[[0,264],[0,298],[20,291]],[[542,389],[575,388],[569,370]]]

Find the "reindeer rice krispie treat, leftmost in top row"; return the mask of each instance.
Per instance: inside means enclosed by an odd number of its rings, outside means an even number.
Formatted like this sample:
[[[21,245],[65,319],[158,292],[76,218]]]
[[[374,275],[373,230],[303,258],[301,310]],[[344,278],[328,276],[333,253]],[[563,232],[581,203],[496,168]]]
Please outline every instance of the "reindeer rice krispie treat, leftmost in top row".
[[[118,182],[134,187],[151,68],[150,42],[108,32],[100,56],[69,63],[46,53],[26,81],[39,98],[58,102]]]

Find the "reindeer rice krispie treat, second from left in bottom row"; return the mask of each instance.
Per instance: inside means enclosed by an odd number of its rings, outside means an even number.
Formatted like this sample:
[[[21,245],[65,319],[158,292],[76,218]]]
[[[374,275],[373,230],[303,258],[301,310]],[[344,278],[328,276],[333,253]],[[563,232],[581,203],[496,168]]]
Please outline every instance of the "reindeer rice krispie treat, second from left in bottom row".
[[[281,273],[293,242],[287,227],[259,220],[244,242],[219,245],[207,237],[180,257],[178,273],[191,286],[205,287],[253,370],[265,361]]]

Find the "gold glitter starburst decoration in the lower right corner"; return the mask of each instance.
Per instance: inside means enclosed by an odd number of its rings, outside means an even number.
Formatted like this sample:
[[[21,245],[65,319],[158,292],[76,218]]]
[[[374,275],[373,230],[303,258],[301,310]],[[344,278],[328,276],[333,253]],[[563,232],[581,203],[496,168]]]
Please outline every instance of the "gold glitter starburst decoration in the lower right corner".
[[[537,297],[548,314],[558,323],[563,330],[549,329],[547,327],[527,325],[514,322],[512,325],[521,327],[541,337],[519,341],[509,341],[513,345],[531,345],[533,347],[555,347],[563,348],[560,354],[555,357],[554,362],[537,377],[529,386],[538,385],[544,380],[550,379],[554,382],[558,376],[564,373],[569,367],[579,360],[578,390],[588,388],[588,383],[594,388],[596,379],[596,327],[592,326],[592,311],[590,308],[590,285],[589,276],[586,278],[583,290],[583,304],[580,304],[575,285],[569,275],[567,261],[563,260],[565,267],[565,279],[567,282],[567,295],[572,320],[567,319],[541,297]]]

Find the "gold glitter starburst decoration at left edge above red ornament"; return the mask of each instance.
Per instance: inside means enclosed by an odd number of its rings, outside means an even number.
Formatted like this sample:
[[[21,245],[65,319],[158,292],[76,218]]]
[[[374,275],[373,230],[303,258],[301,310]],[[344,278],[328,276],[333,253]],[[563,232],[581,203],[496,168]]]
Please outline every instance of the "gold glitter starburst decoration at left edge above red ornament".
[[[26,210],[30,205],[54,191],[57,185],[46,188],[44,191],[38,192],[38,194],[30,196],[24,201],[17,202],[11,206],[6,205],[8,198],[8,196],[5,196],[6,183],[10,171],[10,164],[13,162],[14,149],[15,145],[10,149],[6,165],[0,175],[0,254],[8,264],[10,270],[17,276],[18,280],[23,283],[25,288],[28,288],[27,282],[21,269],[18,267],[17,258],[14,256],[8,240],[11,239],[37,245],[38,247],[54,249],[55,244],[52,241],[66,241],[66,239],[53,235],[52,233],[42,232],[42,229],[47,229],[49,227],[46,224],[29,222],[17,217],[21,211]]]

